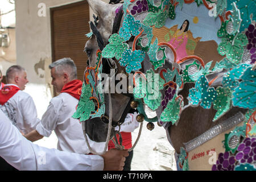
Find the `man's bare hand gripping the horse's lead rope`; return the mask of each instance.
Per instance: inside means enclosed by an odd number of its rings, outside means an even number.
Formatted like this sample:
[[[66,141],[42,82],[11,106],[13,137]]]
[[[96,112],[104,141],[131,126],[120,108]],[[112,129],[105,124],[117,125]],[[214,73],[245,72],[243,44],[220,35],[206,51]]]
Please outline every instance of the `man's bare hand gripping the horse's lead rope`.
[[[104,171],[122,171],[125,166],[125,158],[129,156],[127,150],[112,149],[102,155],[104,158]]]

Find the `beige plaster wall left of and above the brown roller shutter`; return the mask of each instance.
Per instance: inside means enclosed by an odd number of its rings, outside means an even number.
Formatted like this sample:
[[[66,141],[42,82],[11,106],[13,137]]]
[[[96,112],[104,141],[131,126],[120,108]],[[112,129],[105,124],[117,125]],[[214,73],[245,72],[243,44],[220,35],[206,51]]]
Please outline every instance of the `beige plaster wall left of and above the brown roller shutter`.
[[[38,117],[42,118],[52,98],[51,74],[48,65],[52,63],[50,7],[78,2],[76,0],[16,0],[16,63],[24,67],[30,81],[24,92],[33,98]],[[38,16],[39,3],[46,5],[46,16]],[[43,61],[42,68],[34,66]],[[42,63],[42,62],[41,62]],[[52,132],[35,142],[48,148],[57,147],[57,137]]]

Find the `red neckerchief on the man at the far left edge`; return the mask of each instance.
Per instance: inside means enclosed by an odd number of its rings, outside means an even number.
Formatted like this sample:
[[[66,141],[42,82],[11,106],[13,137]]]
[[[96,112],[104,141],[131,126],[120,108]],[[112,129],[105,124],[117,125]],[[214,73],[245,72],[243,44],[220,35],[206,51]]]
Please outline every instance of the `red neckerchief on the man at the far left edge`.
[[[19,90],[20,88],[18,88],[18,86],[14,86],[14,85],[3,86],[3,88],[0,90],[0,104],[4,105]]]

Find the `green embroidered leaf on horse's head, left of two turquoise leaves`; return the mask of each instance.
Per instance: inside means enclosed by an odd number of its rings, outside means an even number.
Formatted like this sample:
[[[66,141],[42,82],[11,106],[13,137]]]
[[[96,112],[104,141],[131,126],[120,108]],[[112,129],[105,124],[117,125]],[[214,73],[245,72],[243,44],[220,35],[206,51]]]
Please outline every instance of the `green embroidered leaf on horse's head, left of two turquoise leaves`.
[[[115,57],[117,60],[122,58],[122,53],[129,48],[128,44],[123,43],[123,39],[118,34],[113,34],[109,38],[109,44],[102,51],[102,57],[112,58]]]

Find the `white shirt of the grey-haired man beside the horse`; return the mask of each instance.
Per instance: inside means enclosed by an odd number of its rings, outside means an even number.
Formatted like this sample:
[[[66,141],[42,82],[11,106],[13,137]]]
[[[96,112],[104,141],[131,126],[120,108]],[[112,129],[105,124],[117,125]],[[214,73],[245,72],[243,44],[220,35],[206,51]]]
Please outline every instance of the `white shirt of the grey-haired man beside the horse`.
[[[60,93],[52,98],[42,121],[36,126],[36,131],[44,137],[49,137],[55,131],[61,151],[88,154],[89,150],[78,119],[72,118],[79,100],[68,93]]]

